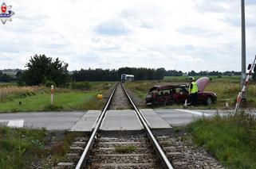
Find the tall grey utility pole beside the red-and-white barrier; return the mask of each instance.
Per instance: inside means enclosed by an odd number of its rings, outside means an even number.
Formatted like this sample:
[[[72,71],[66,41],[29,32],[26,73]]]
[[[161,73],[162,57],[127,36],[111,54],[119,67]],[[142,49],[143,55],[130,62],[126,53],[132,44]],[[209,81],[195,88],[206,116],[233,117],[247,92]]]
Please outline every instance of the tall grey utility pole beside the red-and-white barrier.
[[[241,89],[246,80],[246,21],[245,21],[245,1],[241,0],[241,26],[242,26],[242,71]],[[246,102],[246,92],[242,94],[242,102]]]

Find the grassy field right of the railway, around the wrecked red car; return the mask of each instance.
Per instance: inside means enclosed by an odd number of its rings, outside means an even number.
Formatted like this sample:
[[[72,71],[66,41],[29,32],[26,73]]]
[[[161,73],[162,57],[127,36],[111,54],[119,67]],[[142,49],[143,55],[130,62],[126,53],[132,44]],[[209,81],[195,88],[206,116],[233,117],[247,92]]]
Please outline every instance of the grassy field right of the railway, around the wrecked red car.
[[[198,79],[199,77],[196,77]],[[238,91],[240,90],[240,79],[238,76],[223,76],[218,78],[217,76],[209,77],[211,79],[210,84],[206,87],[206,91],[214,91],[218,98],[217,103],[212,106],[198,106],[198,109],[223,109],[226,108],[226,102],[229,103],[230,108],[234,107]],[[129,89],[136,93],[143,100],[146,98],[148,90],[158,84],[167,83],[188,83],[186,76],[181,77],[165,77],[161,81],[136,81],[127,83]],[[167,107],[180,107],[182,105],[173,105]],[[250,83],[247,92],[247,103],[246,107],[256,106],[256,84]]]

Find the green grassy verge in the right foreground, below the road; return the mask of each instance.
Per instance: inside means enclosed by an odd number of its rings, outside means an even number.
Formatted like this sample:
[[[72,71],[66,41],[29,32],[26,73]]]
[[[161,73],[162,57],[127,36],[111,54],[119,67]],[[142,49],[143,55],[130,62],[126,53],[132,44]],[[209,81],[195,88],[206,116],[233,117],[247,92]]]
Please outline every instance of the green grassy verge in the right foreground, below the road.
[[[256,119],[241,113],[203,118],[189,126],[193,140],[227,168],[256,168]]]

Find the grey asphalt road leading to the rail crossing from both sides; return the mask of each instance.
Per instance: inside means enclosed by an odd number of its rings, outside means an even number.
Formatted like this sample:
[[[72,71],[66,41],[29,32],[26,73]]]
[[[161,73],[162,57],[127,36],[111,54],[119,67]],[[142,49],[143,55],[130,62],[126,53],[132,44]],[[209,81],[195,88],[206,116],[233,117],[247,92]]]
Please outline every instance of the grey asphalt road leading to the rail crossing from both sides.
[[[154,111],[156,115],[159,115],[163,121],[171,126],[187,125],[200,117],[212,117],[217,113],[222,116],[232,113],[232,111],[217,111],[215,109],[154,109]],[[256,114],[255,112],[256,111],[253,110],[250,113]],[[91,113],[90,116],[93,115]],[[31,129],[45,127],[45,129],[48,130],[69,130],[72,129],[73,125],[82,122],[88,130],[91,128],[90,126],[93,125],[97,116],[98,113],[93,115],[93,118],[87,117],[86,112],[0,113],[0,125]],[[112,118],[109,118],[109,120],[112,121],[111,123],[116,124],[121,121],[121,119],[115,121],[115,119],[113,120]],[[132,122],[134,121],[131,121],[131,124]],[[155,124],[157,123],[158,122],[155,121]],[[161,121],[159,123],[161,123]],[[80,128],[82,128],[82,125]]]

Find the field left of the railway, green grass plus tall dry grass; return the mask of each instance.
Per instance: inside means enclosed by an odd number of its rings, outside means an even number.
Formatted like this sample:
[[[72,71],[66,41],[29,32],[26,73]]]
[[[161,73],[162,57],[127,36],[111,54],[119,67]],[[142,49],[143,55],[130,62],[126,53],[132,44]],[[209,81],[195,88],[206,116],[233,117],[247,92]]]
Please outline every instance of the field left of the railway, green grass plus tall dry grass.
[[[106,94],[112,83],[72,85],[73,90],[55,89],[53,106],[50,105],[50,89],[45,86],[0,87],[0,113],[100,109],[104,100],[98,101],[96,95]]]

